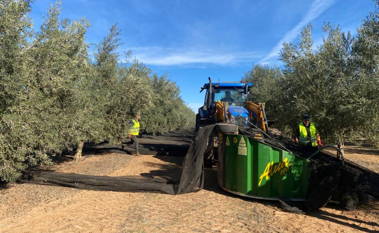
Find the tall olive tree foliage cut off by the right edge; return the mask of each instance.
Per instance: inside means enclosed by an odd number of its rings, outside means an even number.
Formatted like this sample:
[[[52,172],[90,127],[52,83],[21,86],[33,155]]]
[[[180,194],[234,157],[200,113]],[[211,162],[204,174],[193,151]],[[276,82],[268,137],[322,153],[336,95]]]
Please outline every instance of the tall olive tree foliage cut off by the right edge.
[[[359,96],[356,102],[362,105],[357,114],[362,119],[362,131],[367,139],[379,147],[379,1],[358,28],[357,39],[352,45],[352,60],[356,75],[354,89]],[[363,114],[362,114],[363,112]],[[361,115],[362,114],[362,115]]]

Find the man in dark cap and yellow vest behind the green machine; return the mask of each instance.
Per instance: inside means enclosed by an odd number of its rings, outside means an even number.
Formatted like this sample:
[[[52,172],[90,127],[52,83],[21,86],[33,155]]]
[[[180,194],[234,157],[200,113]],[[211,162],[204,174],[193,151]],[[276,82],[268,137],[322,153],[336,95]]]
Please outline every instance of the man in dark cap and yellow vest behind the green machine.
[[[303,121],[296,128],[296,143],[308,147],[321,147],[321,139],[316,126],[308,114],[303,114]]]

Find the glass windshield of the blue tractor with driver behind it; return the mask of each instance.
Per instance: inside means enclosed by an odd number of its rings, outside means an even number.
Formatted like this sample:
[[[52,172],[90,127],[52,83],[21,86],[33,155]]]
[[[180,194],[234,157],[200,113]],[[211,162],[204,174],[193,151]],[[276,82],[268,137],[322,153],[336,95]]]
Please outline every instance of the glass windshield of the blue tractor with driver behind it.
[[[243,89],[228,88],[216,89],[215,101],[228,102],[229,105],[246,107],[246,101],[250,100],[248,94],[243,94]]]

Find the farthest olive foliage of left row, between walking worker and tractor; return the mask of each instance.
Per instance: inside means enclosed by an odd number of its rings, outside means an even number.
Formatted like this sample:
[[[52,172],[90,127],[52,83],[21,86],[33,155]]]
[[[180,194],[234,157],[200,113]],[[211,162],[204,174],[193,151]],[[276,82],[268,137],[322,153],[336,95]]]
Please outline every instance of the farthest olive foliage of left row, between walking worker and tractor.
[[[167,74],[151,77],[153,105],[141,114],[141,127],[150,133],[163,133],[194,125],[195,113],[180,97],[180,89]]]

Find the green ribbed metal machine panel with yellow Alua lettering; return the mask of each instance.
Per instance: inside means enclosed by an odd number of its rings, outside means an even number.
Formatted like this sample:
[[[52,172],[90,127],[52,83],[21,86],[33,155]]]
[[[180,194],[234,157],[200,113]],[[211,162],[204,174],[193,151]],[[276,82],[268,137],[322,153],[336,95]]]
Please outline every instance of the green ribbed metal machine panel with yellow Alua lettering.
[[[219,168],[222,169],[219,173],[222,174],[218,179],[222,188],[254,198],[305,199],[309,160],[247,136],[220,136]]]

